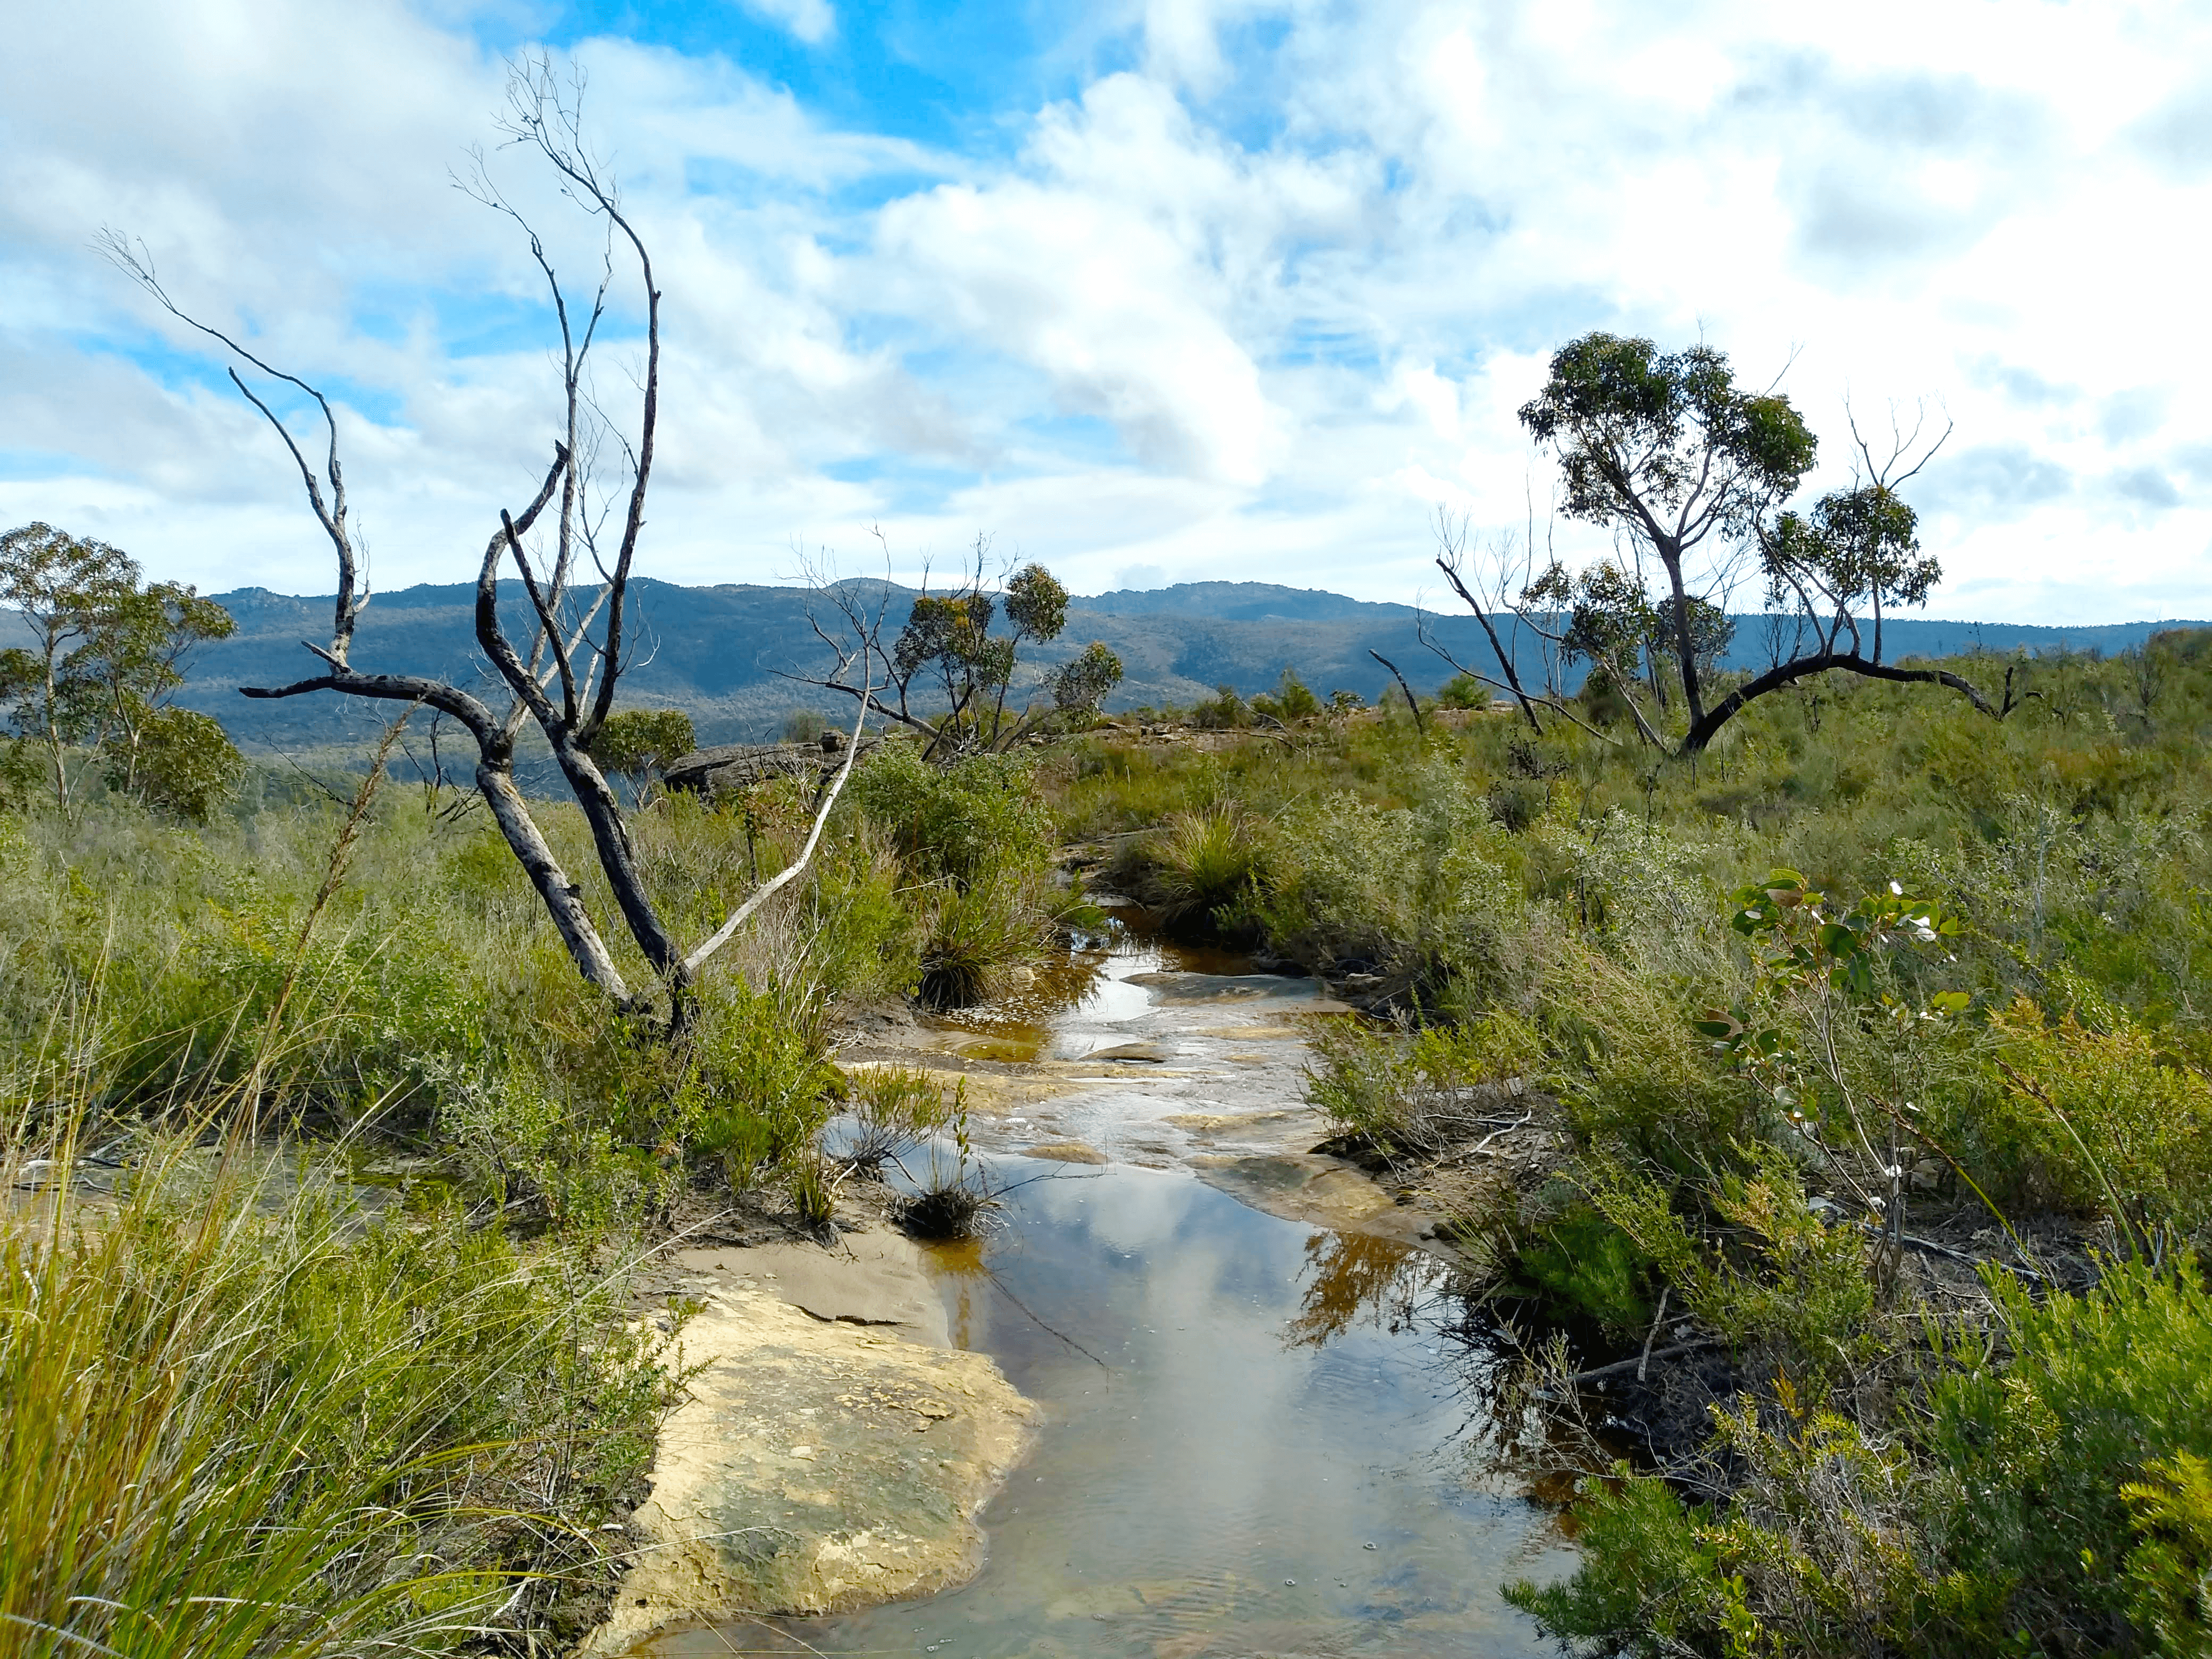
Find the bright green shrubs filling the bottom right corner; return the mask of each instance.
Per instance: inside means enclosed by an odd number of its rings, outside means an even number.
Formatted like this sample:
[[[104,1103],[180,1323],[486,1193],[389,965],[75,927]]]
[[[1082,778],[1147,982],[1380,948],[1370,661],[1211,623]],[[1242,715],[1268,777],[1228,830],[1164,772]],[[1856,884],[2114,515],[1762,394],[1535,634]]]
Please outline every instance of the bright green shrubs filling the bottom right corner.
[[[1783,1387],[1721,1413],[1739,1475],[1686,1504],[1617,1469],[1584,1564],[1509,1599],[1604,1650],[2201,1655],[2212,1644],[2212,1298],[2115,1265],[2035,1303],[1993,1274],[2011,1363],[1953,1345],[1927,1416],[1869,1433]]]

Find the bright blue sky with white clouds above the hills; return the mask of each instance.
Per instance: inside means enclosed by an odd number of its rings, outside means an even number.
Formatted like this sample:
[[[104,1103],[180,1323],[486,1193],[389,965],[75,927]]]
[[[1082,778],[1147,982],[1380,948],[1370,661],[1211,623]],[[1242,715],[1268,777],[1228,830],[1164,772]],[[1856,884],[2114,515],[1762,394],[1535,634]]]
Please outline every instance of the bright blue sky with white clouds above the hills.
[[[1515,409],[1610,330],[1787,392],[1807,491],[1851,418],[1949,429],[1907,487],[1931,615],[2212,617],[2201,2],[71,0],[9,46],[0,524],[208,591],[327,593],[330,546],[95,239],[330,394],[374,586],[473,580],[560,378],[456,179],[482,155],[582,292],[604,259],[500,148],[542,51],[664,294],[646,575],[984,538],[1077,593],[1442,604],[1438,509],[1606,551]],[[617,261],[593,385],[633,425],[639,330]]]

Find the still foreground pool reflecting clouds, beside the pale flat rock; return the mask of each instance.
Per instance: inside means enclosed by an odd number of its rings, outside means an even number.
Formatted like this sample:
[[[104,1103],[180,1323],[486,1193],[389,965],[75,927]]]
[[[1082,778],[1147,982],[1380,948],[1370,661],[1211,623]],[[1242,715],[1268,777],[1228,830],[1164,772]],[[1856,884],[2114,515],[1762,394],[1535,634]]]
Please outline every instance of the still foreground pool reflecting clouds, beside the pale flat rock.
[[[1004,1228],[938,1256],[960,1345],[1046,1427],[978,1579],[653,1655],[1540,1655],[1498,1597],[1573,1562],[1500,1467],[1440,1267],[1183,1170],[993,1159]]]

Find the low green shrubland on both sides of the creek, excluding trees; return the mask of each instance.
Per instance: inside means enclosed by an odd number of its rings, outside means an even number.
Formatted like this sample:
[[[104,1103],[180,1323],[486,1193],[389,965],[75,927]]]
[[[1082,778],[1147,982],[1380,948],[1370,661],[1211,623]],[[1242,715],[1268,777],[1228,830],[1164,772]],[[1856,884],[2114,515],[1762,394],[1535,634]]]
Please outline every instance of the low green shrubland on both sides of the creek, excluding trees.
[[[1413,1177],[1542,1137],[1451,1234],[1588,1475],[1584,1566],[1513,1590],[1548,1630],[2203,1652],[2212,639],[2011,681],[2000,721],[1812,677],[1694,759],[1604,684],[1535,734],[1294,675],[1199,737],[889,741],[681,1026],[575,971],[451,790],[257,770],[206,823],[91,770],[24,796],[0,1613],[55,1652],[588,1617],[672,1385],[626,1263],[699,1203],[818,1225],[960,1139],[927,1077],[838,1073],[838,1009],[991,995],[1075,914],[1055,847],[1097,841],[1168,927],[1369,1009],[1312,1062],[1347,1150]],[[710,931],[814,792],[646,796],[655,911]],[[584,814],[538,810],[606,914]],[[1624,1354],[1703,1389],[1635,1464],[1584,1380]]]

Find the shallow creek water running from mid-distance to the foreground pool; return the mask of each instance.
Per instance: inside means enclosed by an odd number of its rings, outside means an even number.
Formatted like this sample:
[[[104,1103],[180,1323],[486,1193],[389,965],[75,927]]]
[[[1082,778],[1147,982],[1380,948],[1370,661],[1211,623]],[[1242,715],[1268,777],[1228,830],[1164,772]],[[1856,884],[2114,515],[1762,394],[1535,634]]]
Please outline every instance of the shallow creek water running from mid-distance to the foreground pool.
[[[1298,1219],[1354,1179],[1305,1150],[1296,1091],[1334,1004],[1248,969],[1121,936],[922,1037],[1055,1073],[975,1115],[998,1225],[931,1252],[956,1345],[1044,1409],[982,1515],[982,1573],[641,1652],[1551,1652],[1498,1586],[1557,1577],[1571,1546],[1502,1453],[1444,1263],[1371,1203],[1356,1230]],[[1110,1161],[1066,1161],[1075,1141]]]

